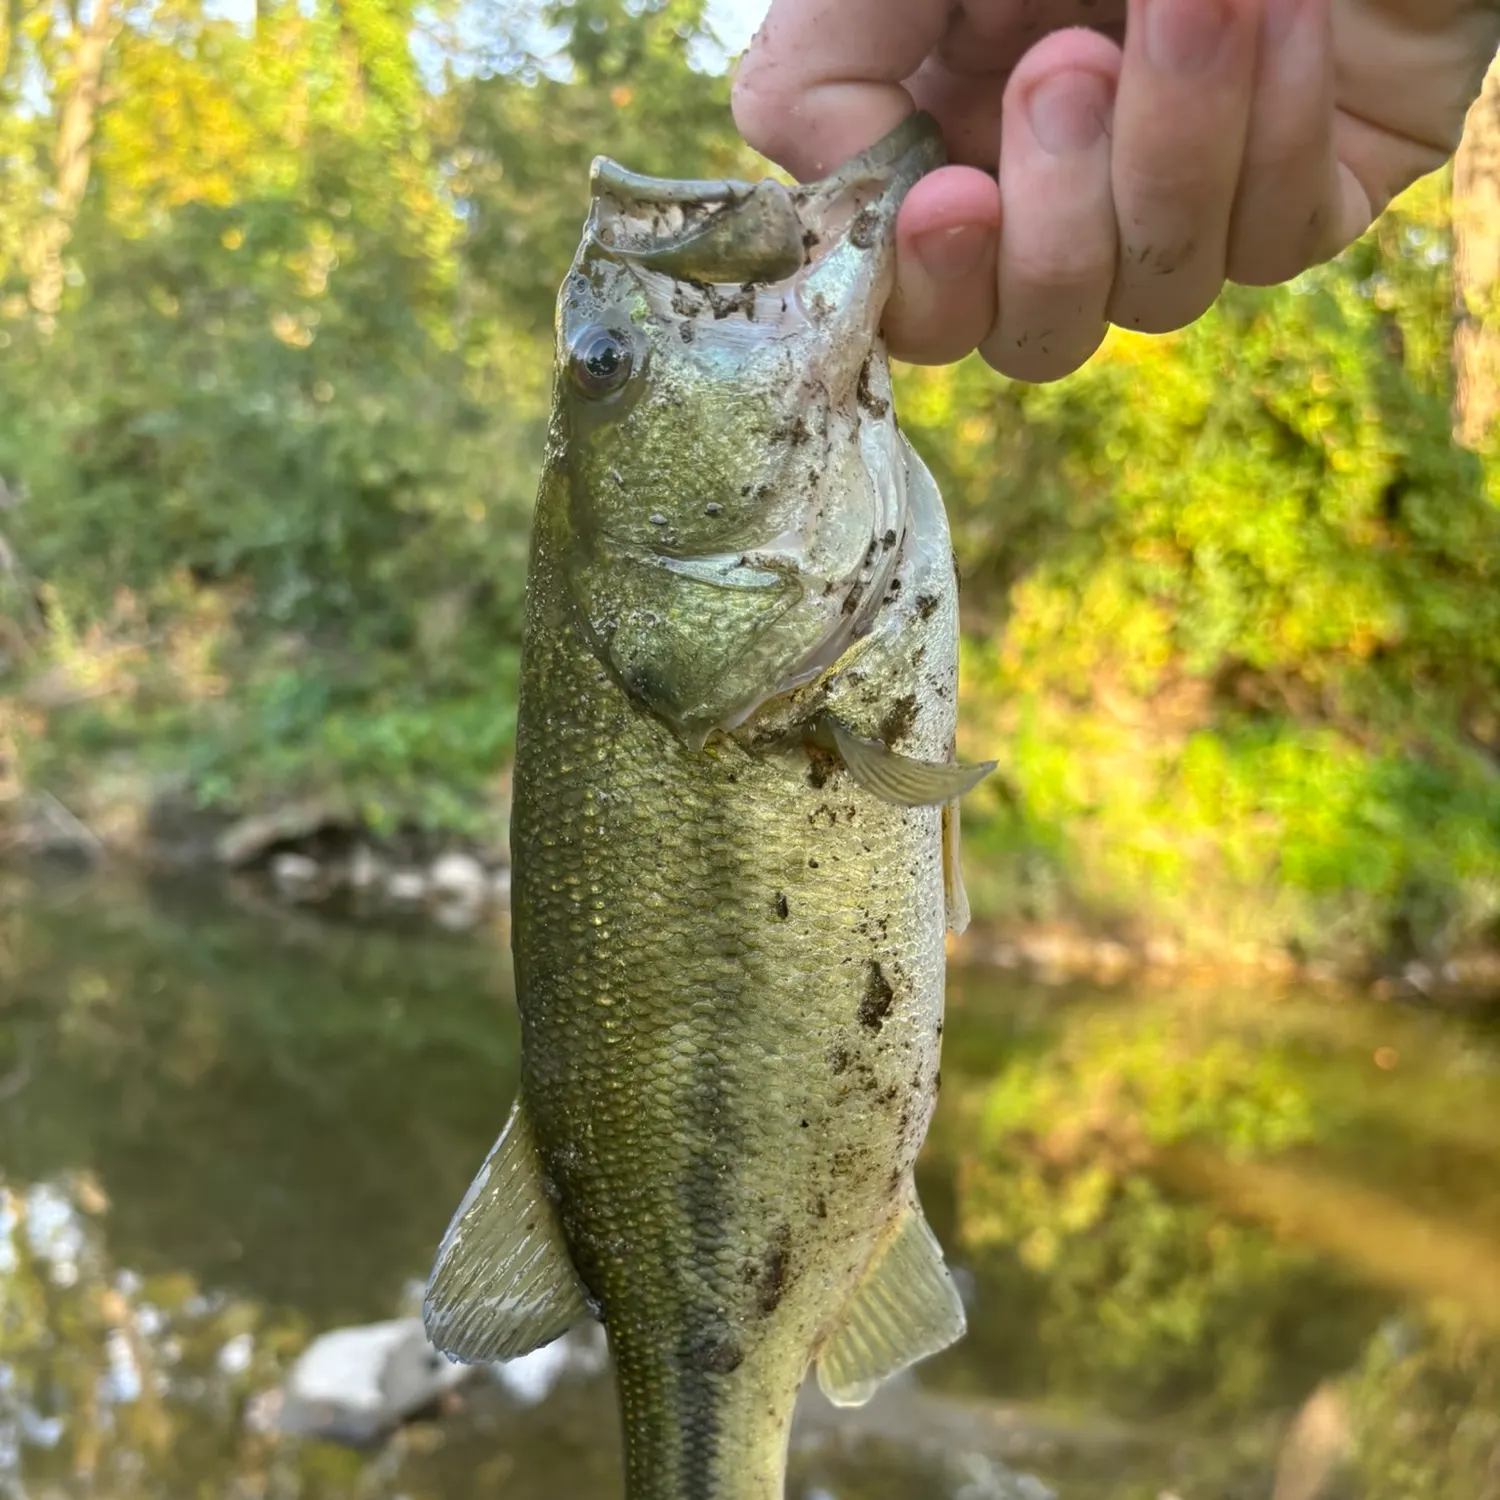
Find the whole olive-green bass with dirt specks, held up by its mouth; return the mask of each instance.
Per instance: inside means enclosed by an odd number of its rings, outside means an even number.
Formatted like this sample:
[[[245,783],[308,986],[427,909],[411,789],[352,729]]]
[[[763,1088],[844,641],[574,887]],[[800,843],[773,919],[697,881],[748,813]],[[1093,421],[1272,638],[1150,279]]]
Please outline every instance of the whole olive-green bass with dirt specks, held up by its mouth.
[[[430,1341],[604,1324],[628,1500],[780,1500],[796,1395],[954,1342],[914,1186],[968,904],[957,574],[879,334],[914,116],[830,177],[608,158],[556,306],[512,808],[520,1090]]]

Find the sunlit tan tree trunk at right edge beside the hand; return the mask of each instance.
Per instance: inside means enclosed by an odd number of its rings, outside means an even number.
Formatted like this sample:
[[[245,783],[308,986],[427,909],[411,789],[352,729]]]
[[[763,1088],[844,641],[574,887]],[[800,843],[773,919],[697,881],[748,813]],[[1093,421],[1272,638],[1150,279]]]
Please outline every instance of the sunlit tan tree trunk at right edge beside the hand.
[[[1454,436],[1482,448],[1500,418],[1500,58],[1454,160]]]

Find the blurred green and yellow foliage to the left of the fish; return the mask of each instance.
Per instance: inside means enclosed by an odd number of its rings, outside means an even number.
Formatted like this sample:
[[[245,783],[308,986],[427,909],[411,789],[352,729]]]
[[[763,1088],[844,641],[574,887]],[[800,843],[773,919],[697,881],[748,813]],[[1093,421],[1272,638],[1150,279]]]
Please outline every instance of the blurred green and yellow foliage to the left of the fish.
[[[590,159],[729,141],[724,80],[682,62],[694,6],[554,20],[572,82],[440,94],[380,4],[126,32],[80,285],[56,332],[15,296],[0,333],[44,700],[84,700],[33,735],[33,776],[144,742],[207,802],[334,792],[378,830],[486,828]]]

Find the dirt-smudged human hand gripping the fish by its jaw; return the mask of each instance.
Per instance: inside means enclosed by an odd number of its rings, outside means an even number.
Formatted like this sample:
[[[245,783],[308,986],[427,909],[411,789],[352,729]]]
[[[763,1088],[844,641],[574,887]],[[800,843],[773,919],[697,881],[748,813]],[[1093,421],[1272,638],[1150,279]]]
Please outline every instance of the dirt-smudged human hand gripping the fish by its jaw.
[[[932,111],[891,352],[1046,381],[1336,255],[1452,154],[1497,44],[1494,0],[772,0],[734,111],[802,178]]]

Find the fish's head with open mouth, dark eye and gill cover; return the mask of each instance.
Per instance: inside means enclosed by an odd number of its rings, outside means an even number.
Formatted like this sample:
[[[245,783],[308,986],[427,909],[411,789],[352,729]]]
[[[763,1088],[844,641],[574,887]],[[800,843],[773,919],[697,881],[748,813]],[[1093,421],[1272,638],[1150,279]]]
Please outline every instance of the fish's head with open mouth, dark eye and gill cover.
[[[688,744],[868,628],[904,532],[879,322],[916,116],[820,183],[600,159],[558,298],[566,572],[610,675]]]

